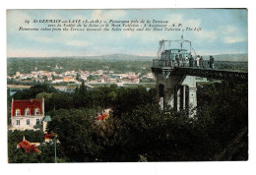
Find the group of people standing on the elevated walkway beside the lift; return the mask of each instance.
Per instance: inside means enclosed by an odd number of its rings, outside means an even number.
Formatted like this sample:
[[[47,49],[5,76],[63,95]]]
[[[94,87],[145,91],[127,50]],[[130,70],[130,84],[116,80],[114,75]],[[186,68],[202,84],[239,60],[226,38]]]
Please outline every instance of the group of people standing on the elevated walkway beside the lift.
[[[203,62],[203,57],[200,55],[197,55],[196,59],[193,58],[192,55],[188,58],[188,56],[185,57],[185,59],[182,59],[182,55],[176,55],[175,60],[177,62],[178,67],[197,67],[197,68],[205,68],[207,67]],[[182,62],[181,62],[182,61]],[[209,60],[209,66],[210,68],[214,69],[214,57],[210,56]]]

